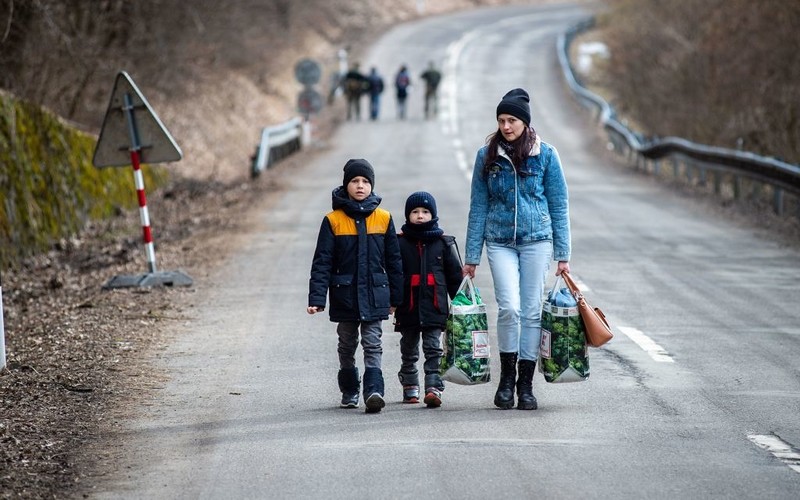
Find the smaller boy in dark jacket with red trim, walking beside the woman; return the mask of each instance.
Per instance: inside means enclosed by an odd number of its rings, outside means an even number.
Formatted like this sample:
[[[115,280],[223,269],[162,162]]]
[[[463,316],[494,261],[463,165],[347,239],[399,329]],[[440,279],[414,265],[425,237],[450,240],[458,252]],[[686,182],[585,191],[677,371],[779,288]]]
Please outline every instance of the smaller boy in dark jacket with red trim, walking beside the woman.
[[[461,257],[453,236],[439,228],[436,200],[419,191],[406,200],[406,222],[401,228],[403,303],[395,311],[395,331],[400,332],[402,365],[397,374],[403,385],[403,402],[419,402],[419,341],[425,354],[425,404],[442,404],[444,383],[439,376],[441,335],[447,323],[448,295],[461,285]]]

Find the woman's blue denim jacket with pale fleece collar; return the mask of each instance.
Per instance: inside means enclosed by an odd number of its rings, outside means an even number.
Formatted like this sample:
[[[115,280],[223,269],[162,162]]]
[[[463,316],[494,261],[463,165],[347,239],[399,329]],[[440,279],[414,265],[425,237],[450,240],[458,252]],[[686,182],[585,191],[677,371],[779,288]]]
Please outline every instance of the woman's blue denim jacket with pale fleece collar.
[[[556,148],[536,139],[521,174],[500,150],[484,175],[489,146],[478,151],[472,172],[466,264],[478,265],[483,244],[525,245],[553,241],[553,259],[571,252],[567,181]]]

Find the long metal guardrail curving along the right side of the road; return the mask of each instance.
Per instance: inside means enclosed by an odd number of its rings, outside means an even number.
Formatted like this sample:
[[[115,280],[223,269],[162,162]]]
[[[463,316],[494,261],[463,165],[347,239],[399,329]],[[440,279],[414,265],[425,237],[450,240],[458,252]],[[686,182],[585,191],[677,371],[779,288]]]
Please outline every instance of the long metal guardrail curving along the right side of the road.
[[[598,110],[598,119],[608,132],[615,151],[633,160],[637,168],[652,171],[655,175],[661,172],[660,160],[669,159],[672,161],[673,176],[678,178],[682,170],[689,183],[705,186],[708,172],[711,172],[714,192],[722,194],[723,184],[728,183],[730,187],[725,190],[734,199],[744,194],[743,179],[753,181],[751,197],[761,191],[762,185],[769,186],[773,210],[779,215],[785,213],[784,192],[800,198],[798,165],[746,151],[696,144],[680,137],[645,138],[622,124],[614,109],[602,97],[580,84],[569,60],[569,47],[573,39],[592,27],[594,18],[584,20],[562,33],[558,38],[558,59],[567,84],[579,102]],[[648,165],[648,160],[652,162],[652,167]],[[795,216],[800,217],[798,200],[795,200],[795,206]]]

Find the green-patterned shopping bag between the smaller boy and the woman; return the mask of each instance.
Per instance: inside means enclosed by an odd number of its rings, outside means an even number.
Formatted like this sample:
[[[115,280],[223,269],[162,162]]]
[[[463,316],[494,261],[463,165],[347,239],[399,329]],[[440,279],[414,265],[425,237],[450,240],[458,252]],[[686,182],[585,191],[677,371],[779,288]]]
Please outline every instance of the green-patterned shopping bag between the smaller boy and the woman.
[[[442,348],[442,380],[460,385],[490,381],[489,319],[486,305],[469,276],[464,277],[450,302]]]

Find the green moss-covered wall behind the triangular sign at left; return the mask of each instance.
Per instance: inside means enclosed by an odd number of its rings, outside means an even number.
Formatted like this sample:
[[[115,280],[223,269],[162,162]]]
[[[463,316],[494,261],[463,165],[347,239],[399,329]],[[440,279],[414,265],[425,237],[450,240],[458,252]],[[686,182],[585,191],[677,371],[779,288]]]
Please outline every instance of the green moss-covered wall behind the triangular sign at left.
[[[92,165],[97,139],[0,92],[0,269],[50,248],[92,219],[135,208],[131,168]],[[166,169],[142,168],[157,189]]]

